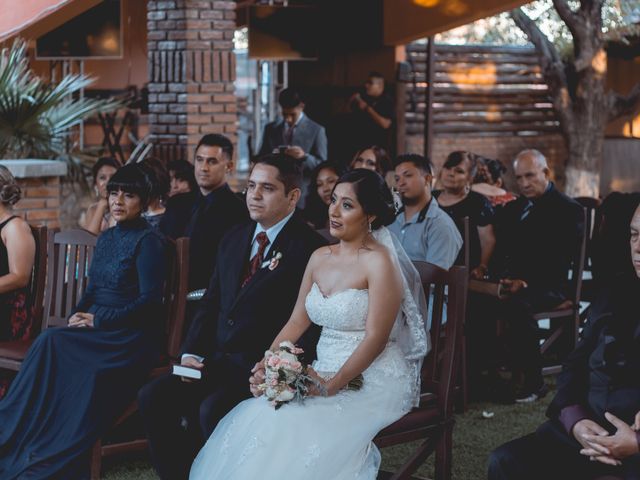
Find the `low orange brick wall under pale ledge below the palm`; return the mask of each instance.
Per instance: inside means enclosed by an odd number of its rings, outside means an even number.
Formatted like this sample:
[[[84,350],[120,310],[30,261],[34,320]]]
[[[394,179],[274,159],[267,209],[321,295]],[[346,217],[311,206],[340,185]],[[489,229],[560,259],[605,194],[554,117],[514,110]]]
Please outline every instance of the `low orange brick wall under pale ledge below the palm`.
[[[31,225],[60,227],[60,177],[19,178],[22,199],[14,211]]]

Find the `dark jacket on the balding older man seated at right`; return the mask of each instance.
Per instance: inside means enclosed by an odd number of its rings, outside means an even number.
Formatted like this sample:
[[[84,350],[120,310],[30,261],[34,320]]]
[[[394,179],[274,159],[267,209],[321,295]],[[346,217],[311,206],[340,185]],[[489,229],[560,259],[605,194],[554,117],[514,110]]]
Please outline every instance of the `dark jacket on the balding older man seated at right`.
[[[525,280],[537,290],[564,293],[582,238],[582,206],[553,183],[522,219],[528,202],[519,197],[496,215],[492,270],[500,277]]]

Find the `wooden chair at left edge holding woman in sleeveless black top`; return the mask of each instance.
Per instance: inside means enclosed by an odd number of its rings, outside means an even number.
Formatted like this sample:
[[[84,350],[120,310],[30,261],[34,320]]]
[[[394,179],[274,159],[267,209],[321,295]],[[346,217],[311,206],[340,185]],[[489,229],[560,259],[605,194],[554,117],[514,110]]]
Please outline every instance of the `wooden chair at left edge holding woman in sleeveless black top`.
[[[15,372],[20,370],[33,339],[42,327],[42,303],[47,273],[47,227],[31,226],[31,233],[36,242],[36,255],[27,285],[27,311],[31,316],[31,335],[28,339],[0,342],[0,369]]]

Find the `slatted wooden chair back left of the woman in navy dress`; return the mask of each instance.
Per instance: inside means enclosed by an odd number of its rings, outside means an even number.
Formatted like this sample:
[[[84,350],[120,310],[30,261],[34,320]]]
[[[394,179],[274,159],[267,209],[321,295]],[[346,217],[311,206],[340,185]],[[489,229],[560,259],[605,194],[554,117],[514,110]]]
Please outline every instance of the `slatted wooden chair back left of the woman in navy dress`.
[[[88,283],[97,237],[86,230],[50,230],[42,328],[64,326]]]

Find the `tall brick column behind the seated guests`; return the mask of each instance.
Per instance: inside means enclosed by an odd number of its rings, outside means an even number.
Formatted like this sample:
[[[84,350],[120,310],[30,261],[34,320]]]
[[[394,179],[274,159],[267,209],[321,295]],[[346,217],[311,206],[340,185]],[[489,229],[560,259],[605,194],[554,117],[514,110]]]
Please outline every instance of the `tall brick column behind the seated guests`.
[[[234,1],[148,1],[149,128],[155,154],[191,160],[202,135],[236,142]]]

